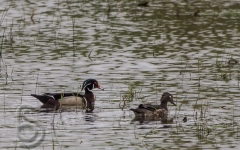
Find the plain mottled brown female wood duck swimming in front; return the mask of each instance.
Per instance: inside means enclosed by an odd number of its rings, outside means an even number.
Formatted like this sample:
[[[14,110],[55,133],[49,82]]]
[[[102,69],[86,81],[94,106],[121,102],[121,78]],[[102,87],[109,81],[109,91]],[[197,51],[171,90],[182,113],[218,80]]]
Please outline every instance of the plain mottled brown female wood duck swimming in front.
[[[167,103],[170,102],[176,106],[173,101],[172,94],[165,92],[162,94],[160,99],[160,105],[151,105],[151,104],[140,104],[136,109],[130,109],[134,112],[136,117],[145,117],[145,116],[163,116],[168,114]]]

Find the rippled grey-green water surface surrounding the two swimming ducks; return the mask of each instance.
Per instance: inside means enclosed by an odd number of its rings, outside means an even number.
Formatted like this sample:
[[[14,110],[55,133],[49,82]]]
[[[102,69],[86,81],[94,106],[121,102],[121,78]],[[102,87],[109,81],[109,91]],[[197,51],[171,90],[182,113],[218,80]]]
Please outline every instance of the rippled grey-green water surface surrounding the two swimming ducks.
[[[33,111],[29,117],[46,133],[34,149],[240,148],[240,3],[137,3],[1,2],[2,149],[29,144],[18,138],[24,120],[16,111],[41,106],[31,93],[75,92],[87,78],[106,89],[94,91],[94,113]],[[200,17],[194,17],[198,9]],[[138,96],[122,110],[129,85]],[[133,120],[129,108],[158,104],[165,91],[177,102],[169,105],[172,121]]]

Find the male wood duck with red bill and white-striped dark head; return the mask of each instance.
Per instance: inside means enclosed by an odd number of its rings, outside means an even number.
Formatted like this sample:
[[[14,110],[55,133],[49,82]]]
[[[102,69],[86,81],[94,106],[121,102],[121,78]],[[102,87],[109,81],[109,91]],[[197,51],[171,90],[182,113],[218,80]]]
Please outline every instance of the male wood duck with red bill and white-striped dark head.
[[[44,93],[42,95],[31,94],[43,103],[43,107],[52,107],[58,109],[60,106],[80,106],[86,108],[87,112],[94,110],[95,96],[92,92],[94,88],[101,88],[100,84],[95,79],[87,79],[83,82],[82,90],[85,94],[80,93]],[[81,90],[81,91],[82,91]]]

